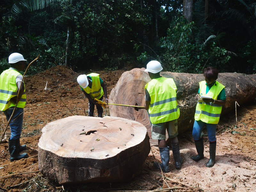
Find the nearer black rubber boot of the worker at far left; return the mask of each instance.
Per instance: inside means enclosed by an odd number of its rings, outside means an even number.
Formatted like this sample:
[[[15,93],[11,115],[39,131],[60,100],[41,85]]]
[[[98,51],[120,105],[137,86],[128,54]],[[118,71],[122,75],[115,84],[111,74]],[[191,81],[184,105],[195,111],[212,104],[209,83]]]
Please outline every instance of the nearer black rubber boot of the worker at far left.
[[[19,145],[20,139],[9,139],[9,153],[10,153],[10,161],[19,160],[22,158],[26,158],[28,156],[27,153],[19,154]]]

